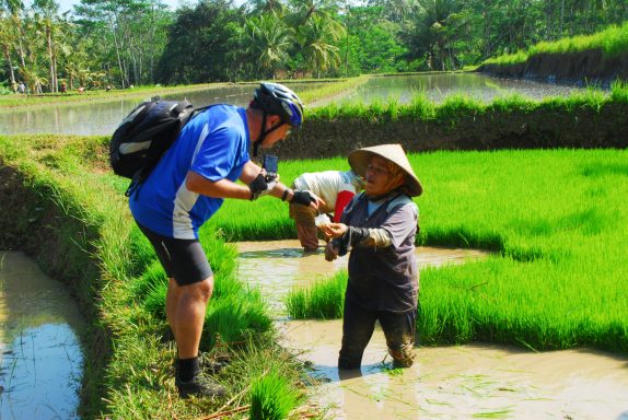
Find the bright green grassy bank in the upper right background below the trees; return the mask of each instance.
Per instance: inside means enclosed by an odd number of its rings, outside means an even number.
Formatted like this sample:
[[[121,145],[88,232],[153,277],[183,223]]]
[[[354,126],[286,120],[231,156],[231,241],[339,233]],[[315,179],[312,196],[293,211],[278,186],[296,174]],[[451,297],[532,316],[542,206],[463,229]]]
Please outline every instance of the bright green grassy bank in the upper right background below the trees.
[[[507,54],[484,61],[485,65],[519,65],[539,54],[568,54],[601,49],[606,57],[614,57],[628,50],[628,22],[610,26],[592,35],[579,35],[555,42],[542,42],[527,50]]]

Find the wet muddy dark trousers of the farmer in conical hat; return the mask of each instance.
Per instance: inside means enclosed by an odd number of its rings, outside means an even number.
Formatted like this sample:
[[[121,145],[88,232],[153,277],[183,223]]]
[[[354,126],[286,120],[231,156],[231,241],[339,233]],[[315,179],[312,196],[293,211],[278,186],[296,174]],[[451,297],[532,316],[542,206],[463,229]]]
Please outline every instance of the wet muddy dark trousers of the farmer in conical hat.
[[[342,347],[338,369],[358,369],[362,354],[371,340],[375,322],[379,320],[386,337],[388,354],[395,368],[409,368],[415,361],[415,328],[417,310],[405,313],[369,311],[356,303],[345,301],[342,319]]]

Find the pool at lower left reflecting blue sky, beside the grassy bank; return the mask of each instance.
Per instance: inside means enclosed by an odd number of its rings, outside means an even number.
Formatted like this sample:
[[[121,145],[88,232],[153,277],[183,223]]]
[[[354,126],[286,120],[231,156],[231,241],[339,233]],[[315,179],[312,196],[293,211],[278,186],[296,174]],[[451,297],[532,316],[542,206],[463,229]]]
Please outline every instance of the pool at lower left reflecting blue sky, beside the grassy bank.
[[[75,419],[82,317],[63,285],[0,252],[0,419]]]

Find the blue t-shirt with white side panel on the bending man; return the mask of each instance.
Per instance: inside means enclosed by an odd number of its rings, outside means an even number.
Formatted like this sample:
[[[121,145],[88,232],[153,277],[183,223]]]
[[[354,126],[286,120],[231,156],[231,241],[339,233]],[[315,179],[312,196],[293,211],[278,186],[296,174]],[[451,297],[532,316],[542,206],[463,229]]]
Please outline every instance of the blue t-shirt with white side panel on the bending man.
[[[222,205],[222,198],[188,190],[188,171],[217,182],[235,182],[249,161],[246,112],[214,105],[195,116],[164,153],[151,175],[129,198],[138,223],[167,237],[198,238],[198,229]]]

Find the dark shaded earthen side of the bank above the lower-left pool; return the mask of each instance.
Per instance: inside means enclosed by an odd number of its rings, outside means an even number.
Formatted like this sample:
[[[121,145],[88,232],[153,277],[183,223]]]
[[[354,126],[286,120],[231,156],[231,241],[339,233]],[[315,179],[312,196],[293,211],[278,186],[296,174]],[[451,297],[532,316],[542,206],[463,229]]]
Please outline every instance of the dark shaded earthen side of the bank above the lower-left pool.
[[[75,409],[81,418],[92,418],[103,409],[102,381],[111,355],[108,331],[94,322],[98,264],[85,252],[97,236],[97,226],[71,217],[77,209],[60,209],[53,196],[50,186],[33,183],[0,160],[0,249],[20,250],[32,258],[47,277],[67,288],[78,305],[86,325],[78,339],[90,369],[78,380]]]

